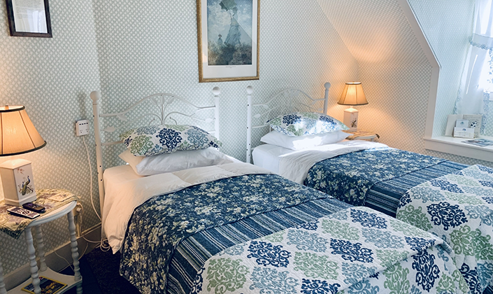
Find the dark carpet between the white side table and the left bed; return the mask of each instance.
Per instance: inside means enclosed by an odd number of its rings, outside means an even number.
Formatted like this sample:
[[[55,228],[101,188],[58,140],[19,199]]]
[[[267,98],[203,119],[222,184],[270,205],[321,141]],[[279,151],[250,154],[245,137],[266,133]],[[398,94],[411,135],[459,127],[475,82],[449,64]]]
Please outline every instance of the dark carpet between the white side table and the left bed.
[[[120,253],[94,249],[80,258],[80,274],[83,276],[83,293],[90,294],[139,294],[138,290],[120,276]],[[71,267],[62,274],[73,274]],[[76,288],[66,293],[76,294]]]

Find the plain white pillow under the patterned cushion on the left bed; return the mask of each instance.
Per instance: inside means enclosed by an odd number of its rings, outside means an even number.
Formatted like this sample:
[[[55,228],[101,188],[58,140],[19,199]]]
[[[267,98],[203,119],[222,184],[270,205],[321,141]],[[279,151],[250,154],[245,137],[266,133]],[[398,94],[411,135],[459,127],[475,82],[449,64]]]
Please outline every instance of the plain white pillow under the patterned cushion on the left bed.
[[[177,172],[194,167],[224,165],[233,162],[227,155],[217,151],[215,148],[176,151],[147,157],[135,156],[127,149],[118,157],[127,162],[139,176],[152,176],[153,174]]]

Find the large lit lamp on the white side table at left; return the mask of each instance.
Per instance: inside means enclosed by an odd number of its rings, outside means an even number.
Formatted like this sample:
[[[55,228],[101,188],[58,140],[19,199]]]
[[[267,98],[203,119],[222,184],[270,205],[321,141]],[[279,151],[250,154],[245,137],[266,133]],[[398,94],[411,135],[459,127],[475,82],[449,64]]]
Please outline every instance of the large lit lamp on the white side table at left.
[[[0,156],[20,155],[46,146],[24,106],[0,106]],[[29,160],[14,159],[0,165],[3,197],[17,207],[36,200]]]

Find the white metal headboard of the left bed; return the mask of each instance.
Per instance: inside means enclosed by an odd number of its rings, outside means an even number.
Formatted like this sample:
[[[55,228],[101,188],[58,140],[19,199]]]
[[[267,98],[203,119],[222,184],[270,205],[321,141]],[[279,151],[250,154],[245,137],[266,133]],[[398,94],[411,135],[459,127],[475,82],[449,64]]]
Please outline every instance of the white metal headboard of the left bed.
[[[101,103],[101,93],[98,91],[94,91],[91,93],[91,99],[92,99],[92,112],[94,114],[94,137],[96,141],[96,161],[97,161],[97,172],[98,172],[98,186],[99,186],[99,207],[101,209],[101,214],[103,213],[103,203],[104,203],[104,182],[103,182],[103,146],[110,146],[110,145],[116,145],[116,144],[122,144],[122,141],[108,141],[108,142],[103,142],[101,140],[101,131],[102,132],[108,132],[108,133],[113,133],[116,130],[124,129],[130,127],[132,123],[136,123],[139,120],[143,120],[145,118],[152,118],[150,123],[157,122],[156,124],[164,124],[166,121],[173,121],[173,123],[177,123],[175,119],[173,119],[171,116],[172,115],[178,115],[178,116],[183,116],[190,118],[192,120],[197,120],[202,123],[212,123],[214,122],[214,130],[207,130],[210,133],[213,133],[214,136],[217,139],[220,139],[220,132],[219,132],[219,95],[221,91],[219,87],[214,87],[213,89],[213,95],[214,95],[214,105],[213,106],[195,106],[194,104],[187,102],[187,100],[183,99],[182,97],[179,97],[178,95],[175,94],[169,94],[169,93],[158,93],[158,94],[152,94],[148,97],[145,97],[132,106],[130,106],[127,109],[124,109],[124,111],[119,112],[119,113],[100,113],[100,103]],[[171,112],[166,112],[168,106],[173,104],[173,102],[183,102],[183,104],[186,104],[187,106],[190,106],[190,109],[192,109],[192,113],[186,114],[186,113],[181,113],[179,111],[171,111]],[[152,106],[155,106],[157,108],[156,112],[147,112],[144,113],[141,116],[138,116],[138,118],[134,118],[133,120],[129,120],[127,118],[127,113],[130,113],[131,111],[134,111],[139,105],[144,104],[145,102],[150,103]],[[207,111],[207,110],[214,110],[214,118],[199,118],[197,116],[198,113],[201,113],[202,111]],[[101,130],[101,118],[117,118],[117,121],[120,123],[118,126],[110,126],[106,127],[104,130]],[[127,129],[124,129],[127,130]]]

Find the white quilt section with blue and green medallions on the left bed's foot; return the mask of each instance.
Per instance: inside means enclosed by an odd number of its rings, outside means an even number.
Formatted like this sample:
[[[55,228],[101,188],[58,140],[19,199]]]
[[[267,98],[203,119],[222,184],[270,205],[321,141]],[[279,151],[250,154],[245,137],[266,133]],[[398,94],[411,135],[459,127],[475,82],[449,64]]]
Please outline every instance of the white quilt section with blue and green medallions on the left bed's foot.
[[[354,207],[221,251],[192,293],[467,293],[447,251],[428,232]]]

